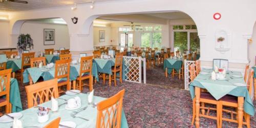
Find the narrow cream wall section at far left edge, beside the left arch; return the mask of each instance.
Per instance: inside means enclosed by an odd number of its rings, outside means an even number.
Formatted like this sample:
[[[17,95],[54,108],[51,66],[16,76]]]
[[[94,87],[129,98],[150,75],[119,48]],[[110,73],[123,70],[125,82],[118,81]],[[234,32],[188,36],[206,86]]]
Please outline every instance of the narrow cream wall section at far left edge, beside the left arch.
[[[9,22],[0,20],[0,48],[8,48],[9,42]]]

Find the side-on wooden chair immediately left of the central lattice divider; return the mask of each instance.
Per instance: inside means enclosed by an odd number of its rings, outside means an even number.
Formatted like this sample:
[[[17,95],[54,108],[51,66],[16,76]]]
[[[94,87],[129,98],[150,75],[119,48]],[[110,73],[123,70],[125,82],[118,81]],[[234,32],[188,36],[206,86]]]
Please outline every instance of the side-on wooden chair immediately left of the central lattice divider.
[[[122,54],[116,54],[116,60],[115,60],[115,66],[112,67],[112,73],[114,73],[114,76],[110,77],[110,86],[111,86],[111,80],[114,80],[115,86],[116,86],[116,77],[119,77],[120,82],[122,83],[122,66],[123,66],[123,55]],[[119,72],[119,76],[116,76],[116,74]]]

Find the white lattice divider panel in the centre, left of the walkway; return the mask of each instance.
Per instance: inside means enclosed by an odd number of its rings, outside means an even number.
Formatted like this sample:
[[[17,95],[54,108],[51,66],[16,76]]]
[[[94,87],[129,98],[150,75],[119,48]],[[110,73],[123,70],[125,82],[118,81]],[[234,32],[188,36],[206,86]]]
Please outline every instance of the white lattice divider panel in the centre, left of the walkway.
[[[146,59],[141,57],[123,56],[125,81],[142,82],[142,68],[143,68],[143,82],[146,83]],[[143,66],[142,66],[143,64]]]

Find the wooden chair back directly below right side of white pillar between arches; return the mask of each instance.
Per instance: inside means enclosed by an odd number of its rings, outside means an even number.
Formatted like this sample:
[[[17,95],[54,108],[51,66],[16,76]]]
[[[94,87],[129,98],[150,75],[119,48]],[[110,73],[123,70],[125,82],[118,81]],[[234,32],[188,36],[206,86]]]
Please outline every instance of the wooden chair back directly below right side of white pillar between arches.
[[[83,73],[90,73],[92,75],[93,56],[81,57],[80,74],[82,77]]]

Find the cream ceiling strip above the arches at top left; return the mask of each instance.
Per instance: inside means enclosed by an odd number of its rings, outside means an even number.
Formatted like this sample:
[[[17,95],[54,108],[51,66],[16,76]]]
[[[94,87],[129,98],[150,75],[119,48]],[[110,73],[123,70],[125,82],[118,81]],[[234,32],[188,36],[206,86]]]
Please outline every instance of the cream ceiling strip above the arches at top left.
[[[28,4],[4,2],[0,3],[0,11],[27,11],[34,9],[53,8],[66,5],[72,5],[78,2],[91,2],[92,0],[22,0]],[[112,0],[93,0],[94,2],[112,1]]]

